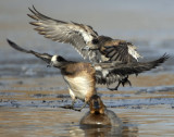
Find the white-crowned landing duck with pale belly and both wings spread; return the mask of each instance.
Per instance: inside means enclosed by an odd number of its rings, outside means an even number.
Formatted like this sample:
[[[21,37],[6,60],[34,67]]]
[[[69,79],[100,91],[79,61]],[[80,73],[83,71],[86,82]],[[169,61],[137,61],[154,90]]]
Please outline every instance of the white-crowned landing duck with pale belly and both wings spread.
[[[156,68],[169,59],[167,54],[149,62],[137,63],[116,63],[116,62],[76,62],[69,61],[61,55],[52,55],[49,53],[39,53],[34,50],[26,50],[16,45],[10,39],[8,43],[15,50],[24,53],[34,54],[47,63],[47,66],[53,66],[61,71],[61,74],[67,85],[72,104],[63,107],[64,109],[73,109],[80,111],[88,104],[90,98],[97,94],[96,84],[107,84],[107,78],[115,82],[119,78],[125,77],[130,74],[139,74],[145,71]],[[75,109],[74,103],[76,99],[84,101],[80,109]]]

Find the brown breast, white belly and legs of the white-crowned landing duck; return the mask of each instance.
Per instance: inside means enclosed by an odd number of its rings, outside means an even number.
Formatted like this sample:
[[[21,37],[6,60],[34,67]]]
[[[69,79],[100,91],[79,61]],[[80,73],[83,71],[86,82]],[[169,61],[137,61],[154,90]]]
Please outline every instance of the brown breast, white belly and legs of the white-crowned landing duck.
[[[53,65],[54,66],[54,65]],[[63,107],[72,109],[76,99],[85,101],[82,110],[96,92],[96,70],[90,63],[67,62],[62,68],[61,74],[67,84],[70,95],[72,97],[72,107]]]

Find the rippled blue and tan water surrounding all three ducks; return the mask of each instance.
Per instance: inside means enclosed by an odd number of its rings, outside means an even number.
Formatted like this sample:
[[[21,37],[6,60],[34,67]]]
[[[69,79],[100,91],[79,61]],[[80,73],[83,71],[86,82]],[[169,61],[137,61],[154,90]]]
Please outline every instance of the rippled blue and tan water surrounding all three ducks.
[[[163,53],[171,59],[162,66],[130,76],[133,87],[108,91],[97,86],[108,109],[124,123],[116,128],[83,128],[79,120],[88,111],[63,110],[71,103],[59,70],[48,68],[30,54],[10,48],[7,38],[40,52],[83,61],[69,45],[39,36],[26,15],[28,7],[62,21],[91,25],[101,35],[132,41],[145,60]],[[0,1],[0,136],[125,136],[172,137],[174,135],[174,1],[111,0]],[[83,102],[77,101],[76,107]]]

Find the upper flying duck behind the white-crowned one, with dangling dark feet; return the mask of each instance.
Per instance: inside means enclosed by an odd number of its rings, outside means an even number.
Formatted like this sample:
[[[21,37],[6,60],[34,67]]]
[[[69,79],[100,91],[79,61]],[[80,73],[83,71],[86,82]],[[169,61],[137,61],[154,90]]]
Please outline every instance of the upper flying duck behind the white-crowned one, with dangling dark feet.
[[[75,22],[67,23],[48,17],[38,12],[35,7],[29,10],[32,14],[28,14],[28,16],[34,20],[30,24],[36,26],[35,30],[54,41],[71,43],[84,59],[88,59],[92,63],[130,63],[137,62],[140,58],[140,54],[132,42],[122,39],[112,39],[108,36],[100,36],[88,25]],[[112,82],[110,78],[105,80],[109,88]],[[120,84],[123,86],[129,84],[132,86],[128,80],[128,75],[116,82],[117,86],[115,88],[109,88],[110,90],[117,90]]]

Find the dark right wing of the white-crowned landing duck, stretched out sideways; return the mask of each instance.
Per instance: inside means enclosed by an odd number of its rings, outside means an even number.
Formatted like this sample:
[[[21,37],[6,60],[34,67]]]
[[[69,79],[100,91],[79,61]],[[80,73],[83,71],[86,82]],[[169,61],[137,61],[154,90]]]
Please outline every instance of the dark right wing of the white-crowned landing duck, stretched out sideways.
[[[145,71],[156,68],[169,59],[167,54],[162,55],[158,60],[151,62],[136,63],[100,63],[95,64],[96,79],[98,84],[113,84],[126,75],[139,74]]]

